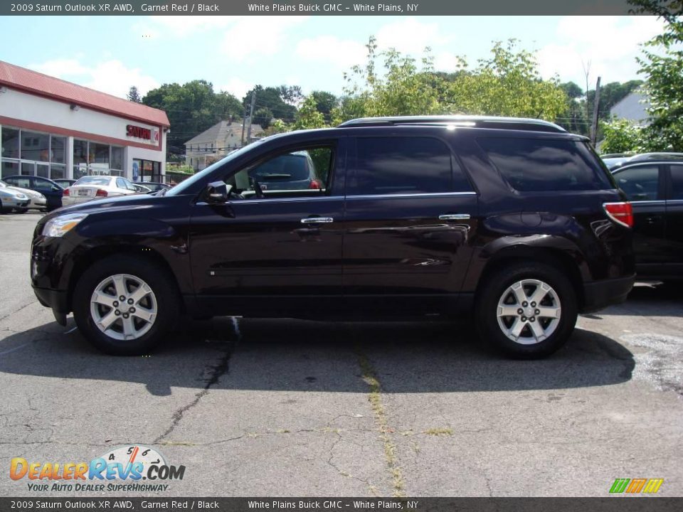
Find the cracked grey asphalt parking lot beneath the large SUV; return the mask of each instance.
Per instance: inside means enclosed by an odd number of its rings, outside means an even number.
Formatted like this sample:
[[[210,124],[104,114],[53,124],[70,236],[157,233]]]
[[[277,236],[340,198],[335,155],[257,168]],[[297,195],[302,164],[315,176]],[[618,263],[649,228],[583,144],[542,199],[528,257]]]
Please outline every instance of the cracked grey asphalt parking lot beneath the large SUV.
[[[159,496],[608,496],[641,477],[683,495],[677,287],[638,284],[545,361],[499,358],[466,321],[231,318],[114,358],[33,296],[38,218],[0,215],[1,496],[37,495],[12,457],[132,443],[186,466]]]

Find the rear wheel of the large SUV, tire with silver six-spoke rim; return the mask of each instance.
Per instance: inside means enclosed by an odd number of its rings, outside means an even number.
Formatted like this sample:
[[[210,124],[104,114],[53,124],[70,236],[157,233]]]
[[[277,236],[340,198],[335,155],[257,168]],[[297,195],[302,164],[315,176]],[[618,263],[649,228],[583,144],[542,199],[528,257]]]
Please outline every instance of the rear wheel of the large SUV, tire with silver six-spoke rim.
[[[544,358],[561,348],[578,313],[571,282],[540,262],[512,263],[494,272],[477,290],[475,308],[481,338],[517,359]]]

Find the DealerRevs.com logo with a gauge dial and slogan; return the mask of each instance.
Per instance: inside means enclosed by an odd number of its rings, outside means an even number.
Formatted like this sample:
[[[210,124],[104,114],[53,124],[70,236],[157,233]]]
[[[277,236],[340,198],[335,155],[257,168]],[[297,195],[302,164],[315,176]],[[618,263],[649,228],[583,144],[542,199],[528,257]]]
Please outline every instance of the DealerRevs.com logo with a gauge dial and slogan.
[[[182,480],[185,466],[168,464],[159,450],[133,444],[117,447],[90,462],[29,462],[14,457],[12,480],[26,480],[29,491],[167,491]]]

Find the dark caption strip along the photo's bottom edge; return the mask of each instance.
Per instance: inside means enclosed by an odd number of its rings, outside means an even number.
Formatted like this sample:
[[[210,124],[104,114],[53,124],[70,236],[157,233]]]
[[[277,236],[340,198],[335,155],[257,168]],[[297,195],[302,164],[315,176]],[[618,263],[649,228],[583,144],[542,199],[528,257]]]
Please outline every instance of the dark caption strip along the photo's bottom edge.
[[[0,511],[678,512],[683,498],[0,498]]]

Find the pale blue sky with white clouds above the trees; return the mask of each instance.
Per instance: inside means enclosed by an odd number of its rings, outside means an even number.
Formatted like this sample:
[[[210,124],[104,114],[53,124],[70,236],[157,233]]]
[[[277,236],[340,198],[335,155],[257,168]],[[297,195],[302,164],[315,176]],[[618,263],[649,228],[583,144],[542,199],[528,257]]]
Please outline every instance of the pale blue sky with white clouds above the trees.
[[[0,60],[120,97],[196,79],[240,99],[255,84],[339,95],[370,36],[416,58],[428,46],[443,71],[516,38],[544,78],[585,87],[590,63],[594,87],[640,78],[639,45],[661,30],[652,16],[5,16]]]

